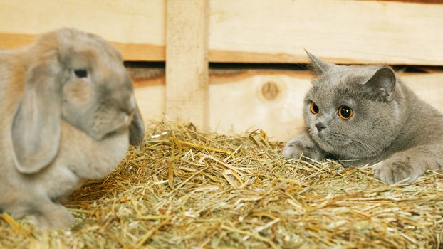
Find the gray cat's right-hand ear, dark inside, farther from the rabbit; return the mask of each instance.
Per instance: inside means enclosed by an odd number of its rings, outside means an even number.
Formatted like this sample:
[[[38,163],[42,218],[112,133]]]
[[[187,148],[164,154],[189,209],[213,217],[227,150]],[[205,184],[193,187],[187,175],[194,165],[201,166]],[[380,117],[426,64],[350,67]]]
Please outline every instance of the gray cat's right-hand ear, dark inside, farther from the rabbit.
[[[365,83],[365,86],[375,92],[377,99],[382,101],[391,101],[394,97],[395,84],[397,79],[391,68],[380,68],[372,75],[372,78]]]

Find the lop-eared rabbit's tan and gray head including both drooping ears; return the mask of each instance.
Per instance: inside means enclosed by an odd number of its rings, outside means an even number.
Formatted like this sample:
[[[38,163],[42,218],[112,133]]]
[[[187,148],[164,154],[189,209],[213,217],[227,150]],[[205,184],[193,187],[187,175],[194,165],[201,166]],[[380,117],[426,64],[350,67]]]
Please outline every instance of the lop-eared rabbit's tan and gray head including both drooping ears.
[[[40,36],[26,55],[24,92],[11,126],[19,171],[34,173],[54,159],[61,120],[98,141],[128,130],[130,144],[142,141],[132,81],[109,43],[63,28]]]

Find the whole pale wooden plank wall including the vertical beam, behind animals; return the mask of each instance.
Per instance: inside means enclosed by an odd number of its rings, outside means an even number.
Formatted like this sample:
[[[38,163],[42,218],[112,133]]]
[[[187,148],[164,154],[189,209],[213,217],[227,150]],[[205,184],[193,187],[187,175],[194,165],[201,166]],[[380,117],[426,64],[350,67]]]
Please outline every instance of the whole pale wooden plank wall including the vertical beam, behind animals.
[[[192,121],[226,132],[265,129],[286,140],[303,127],[311,74],[209,72],[208,63],[306,63],[303,49],[335,63],[437,66],[402,77],[442,110],[443,4],[420,1],[114,0],[0,1],[0,48],[61,26],[97,33],[128,61],[165,61],[137,78],[147,120]]]

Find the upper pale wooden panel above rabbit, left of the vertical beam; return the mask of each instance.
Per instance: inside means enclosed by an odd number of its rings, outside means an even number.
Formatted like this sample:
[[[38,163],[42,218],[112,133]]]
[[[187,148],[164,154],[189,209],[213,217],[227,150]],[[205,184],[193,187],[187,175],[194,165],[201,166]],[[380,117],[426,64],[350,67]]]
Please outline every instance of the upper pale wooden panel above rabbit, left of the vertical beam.
[[[112,41],[125,60],[165,60],[164,0],[0,1],[0,48],[63,26]]]

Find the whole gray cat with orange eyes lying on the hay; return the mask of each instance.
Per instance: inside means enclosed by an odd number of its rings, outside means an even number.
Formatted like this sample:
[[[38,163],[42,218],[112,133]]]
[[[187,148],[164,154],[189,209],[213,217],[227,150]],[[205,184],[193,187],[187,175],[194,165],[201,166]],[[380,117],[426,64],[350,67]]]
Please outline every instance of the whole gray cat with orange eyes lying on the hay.
[[[442,171],[443,115],[391,68],[335,65],[306,53],[317,75],[304,100],[307,129],[286,144],[283,157],[375,164],[375,175],[387,184]]]

